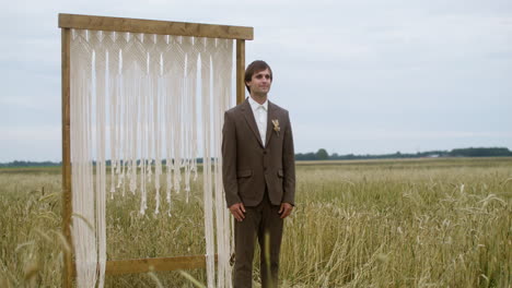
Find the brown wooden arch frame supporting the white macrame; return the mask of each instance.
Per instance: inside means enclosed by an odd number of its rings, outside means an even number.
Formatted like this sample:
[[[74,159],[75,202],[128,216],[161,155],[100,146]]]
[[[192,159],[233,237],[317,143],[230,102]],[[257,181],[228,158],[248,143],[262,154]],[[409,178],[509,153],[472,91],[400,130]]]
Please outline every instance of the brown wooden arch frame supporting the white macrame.
[[[72,287],[75,275],[73,245],[71,239],[71,139],[70,139],[70,44],[71,29],[116,31],[175,36],[195,36],[225,38],[236,40],[236,104],[245,95],[245,40],[254,38],[253,27],[211,25],[185,22],[153,21],[124,17],[105,17],[77,14],[59,14],[61,28],[61,64],[62,64],[62,233],[70,251],[65,251],[62,286]],[[174,271],[206,267],[205,255],[136,259],[107,261],[105,275],[143,273],[152,271]]]

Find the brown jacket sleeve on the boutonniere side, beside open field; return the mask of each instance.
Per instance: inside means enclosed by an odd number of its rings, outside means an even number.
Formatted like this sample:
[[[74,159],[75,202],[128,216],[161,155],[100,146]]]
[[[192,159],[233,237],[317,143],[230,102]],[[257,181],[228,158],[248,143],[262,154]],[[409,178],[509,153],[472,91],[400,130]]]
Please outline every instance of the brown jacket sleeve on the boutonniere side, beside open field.
[[[290,117],[287,113],[288,125],[284,130],[282,147],[282,168],[283,168],[283,203],[295,205],[295,153],[293,149],[293,134],[290,123]]]

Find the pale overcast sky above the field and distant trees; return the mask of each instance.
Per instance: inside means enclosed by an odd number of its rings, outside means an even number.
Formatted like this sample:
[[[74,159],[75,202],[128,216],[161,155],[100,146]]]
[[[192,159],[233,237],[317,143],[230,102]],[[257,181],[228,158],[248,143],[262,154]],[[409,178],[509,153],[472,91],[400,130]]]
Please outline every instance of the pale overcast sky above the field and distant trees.
[[[296,152],[512,148],[510,0],[5,1],[0,161],[60,160],[58,13],[253,26]]]

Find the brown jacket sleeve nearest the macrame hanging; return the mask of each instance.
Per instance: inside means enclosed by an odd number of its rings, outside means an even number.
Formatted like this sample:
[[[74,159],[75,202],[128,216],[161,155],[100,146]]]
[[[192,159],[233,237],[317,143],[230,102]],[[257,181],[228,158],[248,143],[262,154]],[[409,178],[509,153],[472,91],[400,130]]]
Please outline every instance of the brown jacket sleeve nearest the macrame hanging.
[[[222,128],[222,181],[228,207],[241,203],[236,181],[236,128],[229,112],[224,113]]]

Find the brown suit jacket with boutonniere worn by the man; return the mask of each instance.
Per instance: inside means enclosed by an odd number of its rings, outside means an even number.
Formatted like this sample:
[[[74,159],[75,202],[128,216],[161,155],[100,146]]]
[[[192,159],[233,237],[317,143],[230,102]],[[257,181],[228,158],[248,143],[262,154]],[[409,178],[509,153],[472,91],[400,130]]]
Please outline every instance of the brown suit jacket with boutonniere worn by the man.
[[[279,121],[279,132],[272,120]],[[257,206],[268,188],[274,205],[295,197],[295,159],[288,111],[268,101],[266,143],[261,142],[247,99],[224,113],[222,179],[228,206]]]

